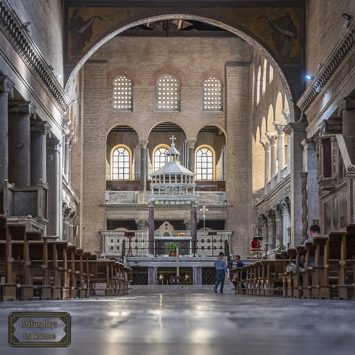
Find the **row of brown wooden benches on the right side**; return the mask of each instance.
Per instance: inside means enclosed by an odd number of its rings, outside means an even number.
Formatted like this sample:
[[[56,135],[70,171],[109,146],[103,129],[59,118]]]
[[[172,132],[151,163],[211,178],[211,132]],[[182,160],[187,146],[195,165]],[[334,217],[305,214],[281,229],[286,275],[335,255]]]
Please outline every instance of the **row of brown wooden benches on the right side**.
[[[236,294],[348,300],[355,294],[354,257],[355,224],[350,224],[344,232],[314,237],[275,260],[234,268],[230,275],[237,274]]]

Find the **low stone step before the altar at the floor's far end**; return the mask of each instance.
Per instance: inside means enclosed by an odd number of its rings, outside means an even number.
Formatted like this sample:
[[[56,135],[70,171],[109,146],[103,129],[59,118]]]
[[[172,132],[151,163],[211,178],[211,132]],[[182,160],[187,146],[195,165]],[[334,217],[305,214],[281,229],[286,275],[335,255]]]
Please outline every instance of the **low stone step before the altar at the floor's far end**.
[[[130,285],[129,294],[142,293],[213,293],[213,285]],[[220,286],[218,286],[219,295]],[[234,294],[234,285],[224,285],[223,293]]]

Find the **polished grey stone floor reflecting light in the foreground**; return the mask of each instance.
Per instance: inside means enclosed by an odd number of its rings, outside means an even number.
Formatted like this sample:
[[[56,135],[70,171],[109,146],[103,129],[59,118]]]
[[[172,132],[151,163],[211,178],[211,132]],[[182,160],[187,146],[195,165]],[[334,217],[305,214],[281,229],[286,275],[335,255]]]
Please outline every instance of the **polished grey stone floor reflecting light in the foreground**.
[[[12,311],[71,314],[68,348],[11,348]],[[354,354],[355,302],[219,294],[0,304],[0,354]]]

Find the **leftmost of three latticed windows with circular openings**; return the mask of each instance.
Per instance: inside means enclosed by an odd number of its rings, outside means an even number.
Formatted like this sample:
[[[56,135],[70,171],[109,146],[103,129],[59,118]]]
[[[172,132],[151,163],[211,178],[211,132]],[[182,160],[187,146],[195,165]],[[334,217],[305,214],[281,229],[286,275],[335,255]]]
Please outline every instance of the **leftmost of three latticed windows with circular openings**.
[[[112,88],[112,108],[120,111],[133,111],[133,82],[125,75],[114,78]]]

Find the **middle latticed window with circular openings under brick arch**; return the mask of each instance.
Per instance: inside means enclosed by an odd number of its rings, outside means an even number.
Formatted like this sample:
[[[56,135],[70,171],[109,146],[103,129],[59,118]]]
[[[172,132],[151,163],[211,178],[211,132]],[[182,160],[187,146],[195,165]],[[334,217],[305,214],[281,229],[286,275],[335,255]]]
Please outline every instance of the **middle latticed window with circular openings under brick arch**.
[[[156,84],[157,111],[180,111],[180,80],[171,74],[161,75]]]

